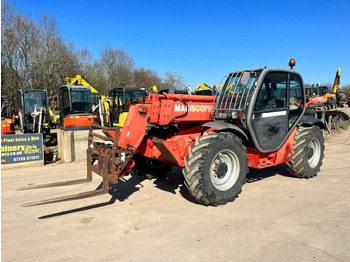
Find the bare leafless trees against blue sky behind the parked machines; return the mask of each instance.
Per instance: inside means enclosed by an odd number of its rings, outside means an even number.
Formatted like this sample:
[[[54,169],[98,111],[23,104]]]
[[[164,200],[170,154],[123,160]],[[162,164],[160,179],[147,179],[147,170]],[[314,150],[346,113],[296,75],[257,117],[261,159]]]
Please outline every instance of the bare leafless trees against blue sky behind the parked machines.
[[[106,45],[99,59],[87,48],[66,43],[54,18],[43,14],[38,23],[16,12],[6,1],[1,8],[2,94],[15,100],[18,89],[46,89],[57,95],[66,77],[80,74],[102,94],[118,86],[158,89],[184,88],[173,72],[160,77],[155,70],[137,67],[121,48]]]

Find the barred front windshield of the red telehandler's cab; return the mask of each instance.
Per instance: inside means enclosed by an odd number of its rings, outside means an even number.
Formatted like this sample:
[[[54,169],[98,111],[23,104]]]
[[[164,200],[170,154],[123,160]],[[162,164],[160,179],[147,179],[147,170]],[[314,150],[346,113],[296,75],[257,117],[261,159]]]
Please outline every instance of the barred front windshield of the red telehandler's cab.
[[[235,110],[243,110],[249,104],[256,72],[239,71],[231,73],[225,85],[218,90],[218,103],[216,103],[215,116],[226,118]]]

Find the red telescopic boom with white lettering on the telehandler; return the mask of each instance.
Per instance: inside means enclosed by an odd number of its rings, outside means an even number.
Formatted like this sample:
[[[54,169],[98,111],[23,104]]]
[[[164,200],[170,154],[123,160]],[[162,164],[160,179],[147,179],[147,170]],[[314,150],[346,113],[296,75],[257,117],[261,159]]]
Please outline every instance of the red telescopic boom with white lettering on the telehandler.
[[[214,97],[212,96],[150,94],[145,104],[130,106],[124,127],[120,130],[118,146],[124,149],[140,148],[147,132],[148,123],[161,126],[170,123],[181,123],[180,133],[177,133],[174,139],[176,141],[181,139],[187,141],[187,139],[179,137],[193,136],[193,132],[200,132],[203,123],[211,120],[213,100]],[[147,110],[145,110],[145,107],[147,107]],[[184,126],[185,123],[188,124],[186,127]],[[169,145],[173,142],[173,138],[170,138],[165,143]],[[148,144],[150,142],[144,141],[144,143]],[[151,141],[151,143],[154,143],[154,141]],[[187,143],[185,142],[185,144]],[[146,146],[143,146],[143,148],[146,151]],[[148,154],[151,153],[148,152]],[[152,154],[157,155],[157,153]],[[176,159],[179,160],[177,157]]]

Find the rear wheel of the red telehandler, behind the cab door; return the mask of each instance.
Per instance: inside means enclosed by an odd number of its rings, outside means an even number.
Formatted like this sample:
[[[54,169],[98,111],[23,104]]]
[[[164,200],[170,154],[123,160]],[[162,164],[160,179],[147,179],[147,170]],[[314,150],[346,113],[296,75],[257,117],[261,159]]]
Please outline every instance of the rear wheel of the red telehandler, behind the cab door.
[[[299,178],[315,177],[322,166],[324,148],[318,126],[299,127],[294,137],[292,158],[287,163],[289,174]]]

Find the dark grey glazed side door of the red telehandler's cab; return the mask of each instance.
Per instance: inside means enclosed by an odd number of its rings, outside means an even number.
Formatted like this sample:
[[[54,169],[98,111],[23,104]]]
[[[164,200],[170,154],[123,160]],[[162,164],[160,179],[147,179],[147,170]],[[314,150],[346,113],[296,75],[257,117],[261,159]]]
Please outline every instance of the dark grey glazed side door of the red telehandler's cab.
[[[299,97],[294,98],[292,94]],[[290,100],[298,101],[298,105]],[[295,100],[294,100],[295,99]],[[279,149],[302,115],[303,89],[299,75],[269,72],[264,77],[251,118],[252,136],[261,152]]]

